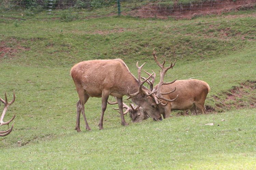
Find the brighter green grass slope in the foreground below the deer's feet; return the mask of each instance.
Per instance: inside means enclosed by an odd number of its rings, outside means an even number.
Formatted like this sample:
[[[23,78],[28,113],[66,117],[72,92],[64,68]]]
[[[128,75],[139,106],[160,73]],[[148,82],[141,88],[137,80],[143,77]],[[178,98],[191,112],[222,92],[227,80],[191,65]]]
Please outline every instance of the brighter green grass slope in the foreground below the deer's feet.
[[[255,111],[173,117],[126,128],[73,133],[20,148],[2,149],[0,160],[9,159],[8,164],[2,164],[7,169],[254,169]]]

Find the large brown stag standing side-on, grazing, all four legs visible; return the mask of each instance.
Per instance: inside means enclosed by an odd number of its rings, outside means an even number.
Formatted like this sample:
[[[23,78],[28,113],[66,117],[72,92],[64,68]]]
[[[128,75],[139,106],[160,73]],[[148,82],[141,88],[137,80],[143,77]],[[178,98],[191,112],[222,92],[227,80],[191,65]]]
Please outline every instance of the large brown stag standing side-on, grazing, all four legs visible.
[[[145,63],[144,63],[145,64]],[[99,129],[103,129],[103,115],[106,109],[109,96],[117,98],[121,123],[127,125],[123,113],[123,96],[129,96],[130,99],[141,106],[145,111],[154,118],[154,120],[161,119],[159,106],[163,105],[160,99],[165,100],[167,103],[175,101],[174,99],[167,99],[159,94],[155,95],[155,92],[147,89],[143,84],[150,79],[154,73],[152,73],[147,79],[141,81],[141,69],[144,66],[138,66],[138,80],[131,74],[126,64],[121,59],[114,60],[90,60],[75,64],[70,71],[73,81],[76,86],[76,90],[79,96],[79,101],[76,103],[76,127],[77,132],[80,130],[80,114],[82,112],[84,121],[86,124],[86,130],[91,130],[85,117],[84,104],[89,97],[101,97],[101,116],[99,121]],[[175,65],[171,65],[166,68],[166,71]],[[173,83],[173,82],[169,82]],[[161,84],[159,84],[159,87]],[[170,91],[165,94],[169,94]],[[164,95],[164,94],[163,94]],[[165,105],[167,105],[167,103]]]

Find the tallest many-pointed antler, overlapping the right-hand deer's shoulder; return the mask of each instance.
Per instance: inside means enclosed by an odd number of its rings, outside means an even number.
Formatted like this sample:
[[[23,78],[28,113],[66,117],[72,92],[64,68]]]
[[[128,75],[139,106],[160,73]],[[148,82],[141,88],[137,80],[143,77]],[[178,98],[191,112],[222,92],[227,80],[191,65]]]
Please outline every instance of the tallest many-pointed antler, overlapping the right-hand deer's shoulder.
[[[162,85],[172,84],[172,83],[174,83],[174,82],[177,80],[177,79],[175,79],[174,81],[172,81],[172,82],[167,82],[167,83],[163,82],[163,78],[165,77],[166,72],[167,72],[170,68],[172,69],[172,68],[174,67],[175,61],[174,61],[173,64],[172,64],[172,62],[171,62],[171,65],[170,65],[169,67],[165,67],[165,60],[163,60],[163,63],[162,63],[162,64],[160,64],[160,63],[158,62],[157,57],[156,57],[156,51],[155,51],[155,49],[153,49],[153,56],[154,56],[155,62],[156,62],[156,63],[158,64],[158,66],[162,69],[162,71],[160,71],[160,82],[158,83],[158,87],[157,87],[157,89],[155,90],[155,91],[156,91],[156,94],[155,94],[155,95],[152,95],[152,97],[154,98],[154,100],[155,100],[155,102],[156,102],[157,104],[161,103],[163,106],[166,106],[166,105],[168,104],[168,102],[173,102],[173,101],[175,101],[175,100],[177,99],[177,97],[179,96],[179,95],[177,95],[177,96],[175,97],[175,99],[172,99],[172,100],[171,100],[171,99],[167,99],[167,98],[165,98],[165,97],[162,96],[162,95],[167,95],[167,94],[170,94],[170,93],[174,92],[174,91],[176,90],[176,87],[175,87],[175,89],[174,89],[173,91],[170,91],[170,92],[161,93],[161,91],[160,91],[160,88],[161,88]],[[166,103],[166,104],[163,104],[162,101],[160,101],[159,99],[165,100],[165,101],[167,101],[167,103]]]

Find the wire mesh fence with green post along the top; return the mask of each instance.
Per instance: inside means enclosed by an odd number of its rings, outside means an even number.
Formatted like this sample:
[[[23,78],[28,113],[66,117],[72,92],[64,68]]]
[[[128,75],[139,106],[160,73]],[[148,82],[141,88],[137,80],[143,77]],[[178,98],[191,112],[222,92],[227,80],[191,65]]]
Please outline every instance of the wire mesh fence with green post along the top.
[[[248,10],[256,0],[3,0],[0,19],[62,18],[125,15],[187,18]]]

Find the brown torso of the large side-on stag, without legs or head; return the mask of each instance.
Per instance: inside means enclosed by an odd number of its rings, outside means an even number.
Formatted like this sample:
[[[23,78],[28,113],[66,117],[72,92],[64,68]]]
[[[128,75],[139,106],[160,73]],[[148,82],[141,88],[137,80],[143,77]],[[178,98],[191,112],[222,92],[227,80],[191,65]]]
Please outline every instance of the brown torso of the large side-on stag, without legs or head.
[[[91,97],[101,97],[102,90],[122,97],[129,84],[137,83],[121,59],[80,62],[71,68],[70,74],[75,85],[83,87]]]

